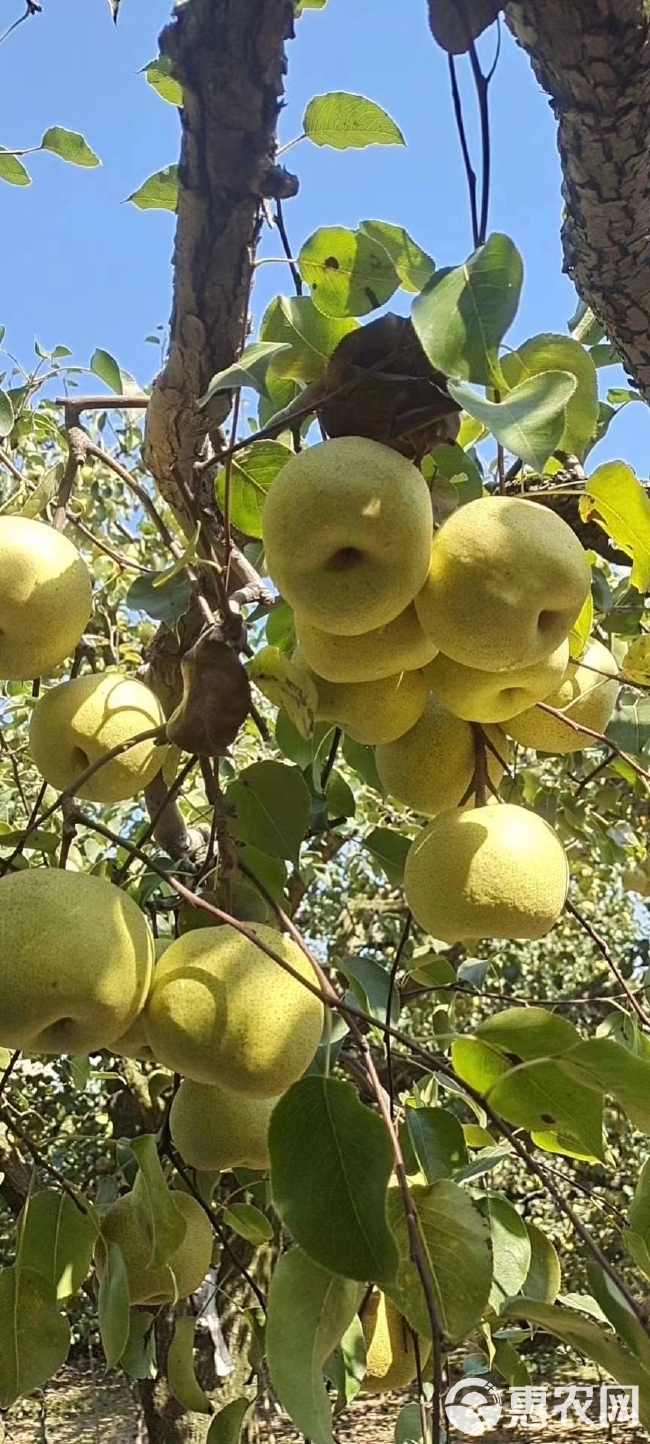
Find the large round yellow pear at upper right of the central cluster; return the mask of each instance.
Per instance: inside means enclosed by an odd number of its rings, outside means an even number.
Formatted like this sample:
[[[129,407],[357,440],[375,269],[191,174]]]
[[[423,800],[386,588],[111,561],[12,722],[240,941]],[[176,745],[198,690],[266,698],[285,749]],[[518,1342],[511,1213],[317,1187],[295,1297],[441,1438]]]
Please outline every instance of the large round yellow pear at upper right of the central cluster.
[[[589,586],[586,552],[562,517],[536,501],[481,497],[436,531],[416,611],[446,657],[501,671],[555,651]]]

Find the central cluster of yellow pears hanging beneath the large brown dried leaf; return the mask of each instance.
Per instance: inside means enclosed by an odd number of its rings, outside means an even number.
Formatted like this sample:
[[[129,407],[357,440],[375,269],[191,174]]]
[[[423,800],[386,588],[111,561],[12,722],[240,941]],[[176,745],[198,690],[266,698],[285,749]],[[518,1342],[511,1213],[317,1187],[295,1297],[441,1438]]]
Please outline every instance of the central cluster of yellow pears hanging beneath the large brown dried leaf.
[[[287,462],[263,534],[316,721],[374,747],[386,794],[430,819],[406,862],[416,921],[449,944],[545,936],[566,856],[497,790],[513,742],[582,749],[615,706],[608,648],[571,650],[591,591],[575,533],[547,507],[494,495],[435,529],[412,462],[341,438]]]

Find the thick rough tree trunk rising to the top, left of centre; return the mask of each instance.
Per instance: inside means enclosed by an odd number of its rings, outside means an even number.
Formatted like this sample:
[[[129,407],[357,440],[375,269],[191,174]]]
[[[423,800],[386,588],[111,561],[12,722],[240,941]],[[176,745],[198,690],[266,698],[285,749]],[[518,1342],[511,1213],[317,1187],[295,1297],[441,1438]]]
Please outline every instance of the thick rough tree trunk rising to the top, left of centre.
[[[195,464],[217,440],[230,399],[196,407],[215,371],[241,349],[263,198],[290,195],[274,163],[293,33],[292,0],[185,0],[160,38],[183,87],[169,358],[147,413],[146,464],[191,536],[207,498]],[[208,488],[209,490],[209,488]],[[209,504],[209,500],[208,500]]]

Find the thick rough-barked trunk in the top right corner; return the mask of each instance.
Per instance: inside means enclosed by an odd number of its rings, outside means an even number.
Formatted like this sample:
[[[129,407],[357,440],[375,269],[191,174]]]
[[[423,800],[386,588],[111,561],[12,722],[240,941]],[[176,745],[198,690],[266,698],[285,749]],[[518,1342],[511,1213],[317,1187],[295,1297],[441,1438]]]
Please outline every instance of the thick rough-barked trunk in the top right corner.
[[[565,269],[650,400],[646,0],[506,0],[558,117]]]

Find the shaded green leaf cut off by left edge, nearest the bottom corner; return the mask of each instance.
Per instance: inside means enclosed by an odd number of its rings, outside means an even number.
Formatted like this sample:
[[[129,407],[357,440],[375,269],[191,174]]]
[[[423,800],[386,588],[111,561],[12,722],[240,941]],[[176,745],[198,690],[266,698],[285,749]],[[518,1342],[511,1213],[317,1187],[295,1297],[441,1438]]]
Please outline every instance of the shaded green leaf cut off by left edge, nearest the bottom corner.
[[[45,1385],[68,1349],[52,1284],[30,1268],[0,1269],[0,1409]]]

